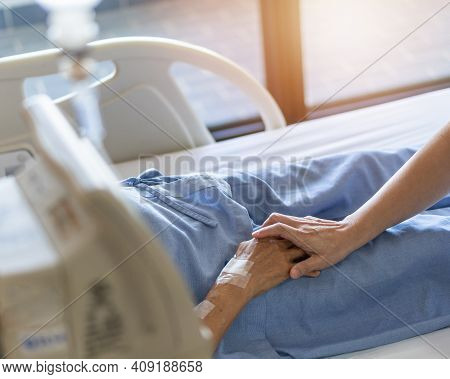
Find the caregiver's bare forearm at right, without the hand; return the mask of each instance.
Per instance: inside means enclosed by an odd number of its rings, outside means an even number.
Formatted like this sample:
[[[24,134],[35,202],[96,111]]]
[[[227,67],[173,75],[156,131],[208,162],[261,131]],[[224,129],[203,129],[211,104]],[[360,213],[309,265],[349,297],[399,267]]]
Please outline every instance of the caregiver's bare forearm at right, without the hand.
[[[363,245],[450,192],[450,123],[345,221]]]

